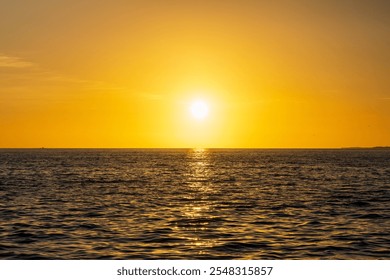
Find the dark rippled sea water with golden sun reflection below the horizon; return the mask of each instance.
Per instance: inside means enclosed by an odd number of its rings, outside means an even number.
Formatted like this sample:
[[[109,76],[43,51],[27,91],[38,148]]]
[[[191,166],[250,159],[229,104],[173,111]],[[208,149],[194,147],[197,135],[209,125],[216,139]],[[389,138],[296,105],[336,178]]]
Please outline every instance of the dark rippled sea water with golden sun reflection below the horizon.
[[[390,151],[0,150],[1,259],[390,259]]]

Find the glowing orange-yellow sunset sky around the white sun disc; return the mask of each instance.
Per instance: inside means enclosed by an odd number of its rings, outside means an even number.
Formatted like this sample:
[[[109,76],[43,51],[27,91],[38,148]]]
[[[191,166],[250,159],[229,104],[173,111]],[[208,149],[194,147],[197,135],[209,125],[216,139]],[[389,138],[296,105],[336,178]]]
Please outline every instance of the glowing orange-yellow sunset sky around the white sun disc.
[[[390,146],[389,15],[379,0],[0,0],[0,147]]]

